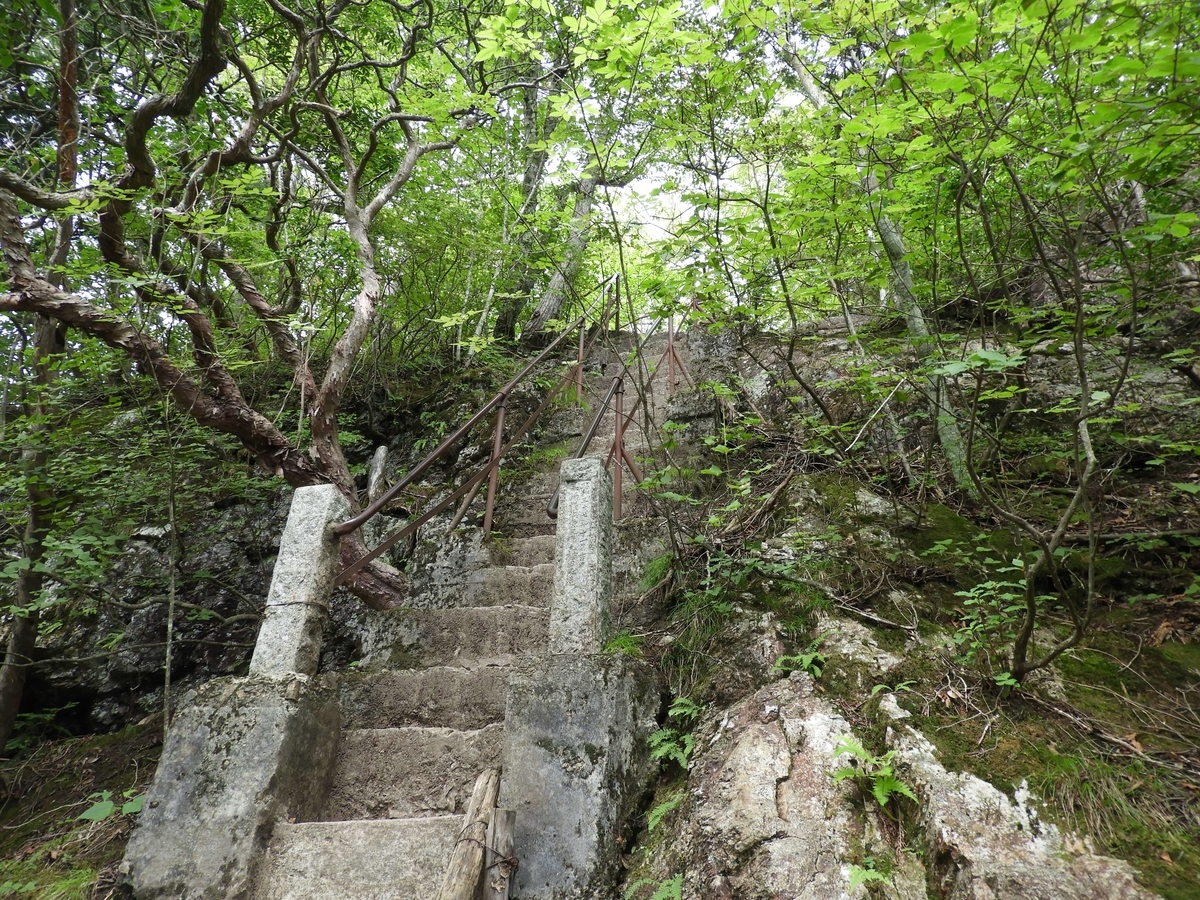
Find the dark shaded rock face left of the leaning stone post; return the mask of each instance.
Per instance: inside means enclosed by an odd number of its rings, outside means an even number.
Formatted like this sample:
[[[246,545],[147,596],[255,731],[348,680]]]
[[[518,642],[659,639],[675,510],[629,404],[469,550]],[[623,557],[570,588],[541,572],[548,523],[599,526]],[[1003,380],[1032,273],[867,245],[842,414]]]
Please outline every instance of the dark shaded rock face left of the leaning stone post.
[[[245,671],[290,494],[281,490],[270,503],[211,509],[181,527],[176,599],[224,618],[246,618],[221,625],[208,613],[176,611],[176,691]],[[31,671],[23,712],[74,703],[59,721],[108,731],[161,709],[169,542],[166,526],[131,535],[97,595],[72,602],[76,610],[91,602],[96,612],[64,614],[61,626],[40,640],[38,659],[48,662]]]

